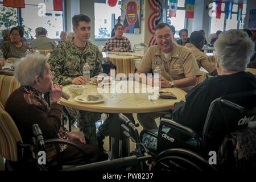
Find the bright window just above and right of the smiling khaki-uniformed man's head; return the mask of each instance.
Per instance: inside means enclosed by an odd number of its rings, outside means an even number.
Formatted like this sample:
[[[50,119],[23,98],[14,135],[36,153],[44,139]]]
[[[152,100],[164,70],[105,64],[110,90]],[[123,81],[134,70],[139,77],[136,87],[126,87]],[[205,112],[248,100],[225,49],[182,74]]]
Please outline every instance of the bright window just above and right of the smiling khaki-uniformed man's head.
[[[168,6],[169,8],[169,6]],[[167,23],[175,27],[175,38],[179,38],[179,30],[186,28],[187,19],[185,18],[185,0],[177,1],[176,17],[169,17],[169,11],[167,10]]]

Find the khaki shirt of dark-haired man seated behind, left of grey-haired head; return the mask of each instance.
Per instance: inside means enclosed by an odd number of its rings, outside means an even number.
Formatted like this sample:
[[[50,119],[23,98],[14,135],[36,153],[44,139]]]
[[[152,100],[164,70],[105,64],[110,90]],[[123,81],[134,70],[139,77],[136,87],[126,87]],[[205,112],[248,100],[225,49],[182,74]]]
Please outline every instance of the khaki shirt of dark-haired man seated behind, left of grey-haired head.
[[[185,47],[191,49],[193,55],[196,57],[197,64],[200,67],[203,67],[209,73],[212,73],[216,68],[212,57],[207,56],[204,52],[201,52],[195,45],[191,43],[185,44]]]

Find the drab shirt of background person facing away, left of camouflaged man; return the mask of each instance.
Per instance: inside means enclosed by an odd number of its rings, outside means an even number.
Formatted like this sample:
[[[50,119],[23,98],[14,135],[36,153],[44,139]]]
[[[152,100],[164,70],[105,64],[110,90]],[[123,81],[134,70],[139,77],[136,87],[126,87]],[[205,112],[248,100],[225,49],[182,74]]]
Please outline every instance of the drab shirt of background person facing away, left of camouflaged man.
[[[56,48],[56,43],[53,39],[47,38],[45,35],[39,35],[38,38],[31,40],[30,47],[38,50],[53,50]]]

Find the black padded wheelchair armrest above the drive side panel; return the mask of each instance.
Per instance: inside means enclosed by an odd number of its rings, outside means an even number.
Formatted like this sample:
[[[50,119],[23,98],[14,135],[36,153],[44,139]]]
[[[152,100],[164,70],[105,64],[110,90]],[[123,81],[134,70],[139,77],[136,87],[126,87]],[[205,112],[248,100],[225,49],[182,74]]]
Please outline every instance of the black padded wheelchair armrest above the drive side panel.
[[[162,118],[161,121],[162,123],[164,123],[165,125],[171,126],[176,128],[177,130],[180,130],[181,132],[189,135],[192,138],[199,138],[199,134],[197,134],[195,131],[193,131],[192,129],[190,129],[189,127],[180,125],[179,123],[172,121],[171,119],[167,119],[167,118]]]

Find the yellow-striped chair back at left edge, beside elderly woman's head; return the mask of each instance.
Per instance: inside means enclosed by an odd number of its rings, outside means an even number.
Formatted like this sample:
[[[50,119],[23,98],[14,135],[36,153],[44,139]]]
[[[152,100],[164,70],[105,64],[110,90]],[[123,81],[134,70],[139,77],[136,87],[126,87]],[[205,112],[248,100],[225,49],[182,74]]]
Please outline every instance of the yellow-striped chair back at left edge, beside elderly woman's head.
[[[4,106],[7,98],[17,88],[19,88],[19,82],[13,76],[0,75],[0,102]]]

